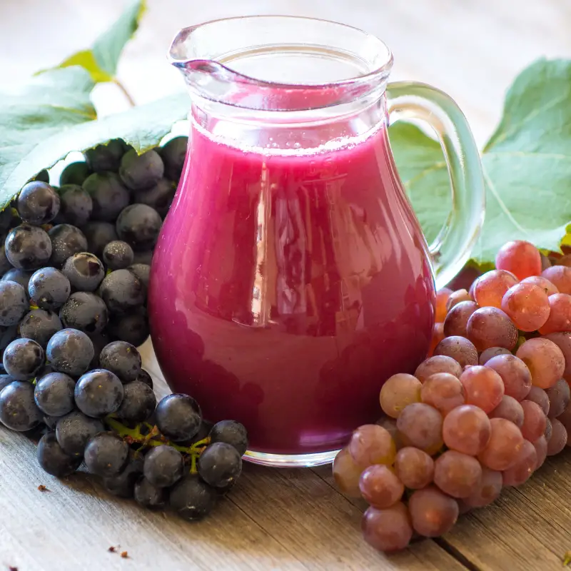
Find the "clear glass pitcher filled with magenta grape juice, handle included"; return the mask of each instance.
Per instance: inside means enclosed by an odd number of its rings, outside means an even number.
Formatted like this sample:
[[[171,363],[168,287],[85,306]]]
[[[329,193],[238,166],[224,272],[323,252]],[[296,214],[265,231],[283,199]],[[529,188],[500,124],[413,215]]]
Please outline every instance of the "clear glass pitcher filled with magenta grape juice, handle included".
[[[435,285],[470,256],[480,158],[450,97],[387,84],[382,41],[342,24],[248,16],[183,29],[183,176],[151,269],[158,363],[205,418],[239,420],[256,463],[328,463],[380,414],[379,390],[428,351]],[[428,246],[388,123],[440,138],[453,210]]]

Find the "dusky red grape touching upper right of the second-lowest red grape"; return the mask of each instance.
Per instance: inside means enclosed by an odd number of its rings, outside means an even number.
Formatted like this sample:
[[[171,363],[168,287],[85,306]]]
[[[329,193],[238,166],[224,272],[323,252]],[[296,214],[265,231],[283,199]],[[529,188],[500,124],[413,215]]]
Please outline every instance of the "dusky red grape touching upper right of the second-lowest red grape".
[[[452,497],[468,497],[480,486],[482,467],[468,454],[447,450],[434,463],[434,483]]]

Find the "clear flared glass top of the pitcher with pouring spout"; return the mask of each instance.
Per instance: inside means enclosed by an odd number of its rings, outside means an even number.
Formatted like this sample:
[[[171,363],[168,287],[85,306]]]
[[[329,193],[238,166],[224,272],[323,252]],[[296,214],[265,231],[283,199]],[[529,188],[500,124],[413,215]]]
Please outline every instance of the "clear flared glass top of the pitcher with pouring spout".
[[[316,23],[328,39],[323,45],[315,41]],[[338,46],[332,47],[335,36]],[[294,16],[245,16],[182,29],[168,59],[192,97],[261,111],[373,101],[383,94],[393,65],[390,50],[375,36]]]

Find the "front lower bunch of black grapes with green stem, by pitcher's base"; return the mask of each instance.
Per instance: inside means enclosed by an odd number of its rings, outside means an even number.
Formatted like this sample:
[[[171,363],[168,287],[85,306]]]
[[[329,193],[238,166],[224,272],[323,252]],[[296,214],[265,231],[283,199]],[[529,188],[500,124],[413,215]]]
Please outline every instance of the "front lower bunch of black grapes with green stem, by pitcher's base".
[[[130,343],[109,343],[99,368],[89,370],[94,353],[76,329],[55,333],[45,354],[34,340],[12,341],[4,351],[0,421],[20,432],[45,424],[37,458],[51,475],[85,463],[113,494],[144,507],[169,505],[187,520],[207,515],[241,474],[245,428],[233,420],[210,425],[188,395],[157,405]]]

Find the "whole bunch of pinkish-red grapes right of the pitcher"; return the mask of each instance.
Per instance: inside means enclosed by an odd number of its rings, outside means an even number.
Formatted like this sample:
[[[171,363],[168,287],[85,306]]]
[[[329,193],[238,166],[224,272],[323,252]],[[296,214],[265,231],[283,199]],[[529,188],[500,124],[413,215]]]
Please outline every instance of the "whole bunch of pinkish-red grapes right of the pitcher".
[[[429,357],[383,384],[383,418],[355,430],[333,463],[340,490],[370,504],[370,545],[391,552],[443,535],[571,445],[566,258],[510,242],[470,291],[438,292]]]

